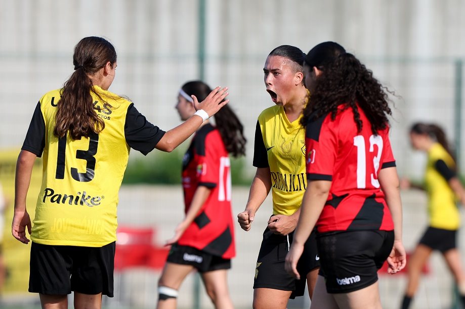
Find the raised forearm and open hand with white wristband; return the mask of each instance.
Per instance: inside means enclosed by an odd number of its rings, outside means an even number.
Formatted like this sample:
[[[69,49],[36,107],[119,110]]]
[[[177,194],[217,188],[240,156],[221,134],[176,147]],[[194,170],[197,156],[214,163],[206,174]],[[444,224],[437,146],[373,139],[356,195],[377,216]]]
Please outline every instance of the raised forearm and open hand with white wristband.
[[[192,95],[194,100],[195,110],[203,110],[207,113],[208,117],[215,115],[223,106],[228,104],[229,100],[223,99],[229,94],[228,87],[220,90],[216,87],[208,96],[202,101],[198,102],[195,95]],[[199,115],[193,115],[188,120],[179,126],[167,131],[163,137],[155,145],[155,148],[162,151],[171,152],[178,147],[183,141],[191,136],[203,123],[203,119]]]

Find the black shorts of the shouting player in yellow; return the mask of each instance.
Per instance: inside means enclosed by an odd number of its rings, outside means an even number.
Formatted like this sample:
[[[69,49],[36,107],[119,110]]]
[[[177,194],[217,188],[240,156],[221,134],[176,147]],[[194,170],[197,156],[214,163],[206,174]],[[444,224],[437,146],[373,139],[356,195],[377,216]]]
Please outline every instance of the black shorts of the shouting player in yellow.
[[[254,289],[269,288],[292,291],[290,298],[304,295],[307,274],[320,267],[320,258],[316,247],[315,232],[312,232],[304,245],[304,252],[297,264],[301,279],[295,280],[290,276],[284,269],[284,261],[287,252],[289,252],[293,234],[292,232],[282,236],[274,234],[268,227],[265,229],[255,269]]]

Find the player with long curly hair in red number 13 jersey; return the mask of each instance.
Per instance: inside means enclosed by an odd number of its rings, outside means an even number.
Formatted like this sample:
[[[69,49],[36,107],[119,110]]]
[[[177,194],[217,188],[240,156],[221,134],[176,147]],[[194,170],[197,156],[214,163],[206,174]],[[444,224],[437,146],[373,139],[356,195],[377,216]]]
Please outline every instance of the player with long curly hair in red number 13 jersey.
[[[388,94],[357,58],[334,42],[304,63],[308,185],[286,270],[317,227],[320,274],[312,307],[381,308],[377,270],[405,267],[399,179],[389,141]]]

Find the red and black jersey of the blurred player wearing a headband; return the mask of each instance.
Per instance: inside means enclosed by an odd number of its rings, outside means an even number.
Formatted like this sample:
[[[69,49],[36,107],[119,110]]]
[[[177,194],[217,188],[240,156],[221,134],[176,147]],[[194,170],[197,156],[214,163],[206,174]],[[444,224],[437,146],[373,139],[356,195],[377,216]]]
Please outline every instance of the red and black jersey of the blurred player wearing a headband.
[[[201,127],[192,139],[183,159],[182,183],[186,213],[198,186],[212,190],[178,243],[233,258],[230,161],[220,132],[211,124]]]

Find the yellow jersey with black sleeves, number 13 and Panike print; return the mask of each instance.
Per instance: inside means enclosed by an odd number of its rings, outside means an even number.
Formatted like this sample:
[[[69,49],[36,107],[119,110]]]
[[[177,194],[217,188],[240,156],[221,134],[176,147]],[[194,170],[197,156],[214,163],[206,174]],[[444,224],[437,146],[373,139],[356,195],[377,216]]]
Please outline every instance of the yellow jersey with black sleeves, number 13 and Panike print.
[[[164,134],[132,102],[98,86],[95,90],[106,101],[91,92],[105,128],[89,138],[53,134],[60,89],[37,104],[22,147],[38,157],[44,154],[31,234],[36,243],[101,247],[115,241],[118,191],[130,148],[146,155]]]

